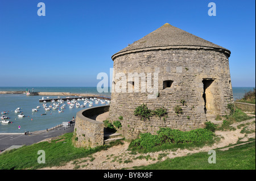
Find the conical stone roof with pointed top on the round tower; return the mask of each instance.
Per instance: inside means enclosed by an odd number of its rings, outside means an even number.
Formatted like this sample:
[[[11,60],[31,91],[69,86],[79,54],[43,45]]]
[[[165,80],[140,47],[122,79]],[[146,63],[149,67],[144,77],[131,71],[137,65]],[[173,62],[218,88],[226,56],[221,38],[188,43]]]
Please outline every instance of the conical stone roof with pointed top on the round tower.
[[[230,50],[166,23],[142,39],[115,53],[112,59],[114,60],[114,58],[122,54],[154,49],[217,49],[228,54],[228,57],[230,56]]]

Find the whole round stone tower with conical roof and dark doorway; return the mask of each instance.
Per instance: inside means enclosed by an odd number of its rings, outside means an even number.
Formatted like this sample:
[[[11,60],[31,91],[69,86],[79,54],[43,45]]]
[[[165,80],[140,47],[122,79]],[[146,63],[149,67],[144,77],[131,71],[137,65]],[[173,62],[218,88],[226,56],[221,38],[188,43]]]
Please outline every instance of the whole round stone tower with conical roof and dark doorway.
[[[233,102],[229,56],[228,49],[164,24],[112,56],[110,120],[123,116],[126,138],[154,134],[159,127],[204,127]],[[141,120],[134,110],[143,103],[150,110],[166,108],[168,117]],[[182,113],[175,112],[177,106]]]

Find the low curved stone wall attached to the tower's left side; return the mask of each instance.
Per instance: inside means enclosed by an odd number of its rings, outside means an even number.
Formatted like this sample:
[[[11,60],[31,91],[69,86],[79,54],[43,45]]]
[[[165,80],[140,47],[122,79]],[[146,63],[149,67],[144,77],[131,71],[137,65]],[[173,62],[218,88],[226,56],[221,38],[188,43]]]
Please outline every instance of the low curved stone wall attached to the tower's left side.
[[[94,148],[104,145],[104,123],[89,119],[90,116],[109,111],[109,106],[99,106],[81,110],[76,114],[74,145]]]

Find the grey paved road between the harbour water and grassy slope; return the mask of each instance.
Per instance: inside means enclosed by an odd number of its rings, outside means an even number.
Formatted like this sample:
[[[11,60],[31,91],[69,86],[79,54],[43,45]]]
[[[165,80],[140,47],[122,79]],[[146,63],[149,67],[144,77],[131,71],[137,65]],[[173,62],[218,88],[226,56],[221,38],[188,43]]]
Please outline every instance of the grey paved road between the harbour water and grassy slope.
[[[25,134],[0,134],[0,151],[3,151],[13,145],[32,145],[36,142],[42,141],[46,138],[60,136],[64,133],[74,131],[74,127],[64,129],[64,127],[56,128],[51,131],[37,131]],[[63,130],[64,129],[64,130]]]

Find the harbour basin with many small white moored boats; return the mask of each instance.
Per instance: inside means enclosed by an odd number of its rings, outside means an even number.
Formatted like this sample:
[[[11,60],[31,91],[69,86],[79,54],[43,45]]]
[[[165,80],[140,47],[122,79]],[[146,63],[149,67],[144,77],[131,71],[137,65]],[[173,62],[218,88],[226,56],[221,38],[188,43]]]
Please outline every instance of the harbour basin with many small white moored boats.
[[[0,101],[2,103],[0,104],[0,112],[6,113],[6,115],[1,114],[1,116],[9,118],[7,119],[9,123],[4,124],[4,119],[0,123],[0,133],[24,134],[25,132],[31,133],[42,130],[46,131],[47,129],[51,130],[56,125],[72,120],[72,117],[76,117],[78,111],[89,107],[109,104],[106,100],[110,100],[109,97],[103,95],[84,94],[82,96],[82,93],[64,93],[65,95],[63,95],[63,92],[57,95],[56,92],[51,92],[54,95],[43,95],[46,99],[42,100],[42,95],[27,96],[20,91],[18,91],[18,94],[13,94],[13,92],[9,91],[9,94],[0,94]],[[87,103],[85,103],[86,98],[89,100]],[[70,104],[67,102],[68,99],[70,100]],[[102,100],[102,102],[97,102],[96,100],[98,99]],[[58,100],[63,100],[63,103],[58,102]],[[72,103],[74,104],[73,106]],[[47,106],[47,109],[44,108],[44,105]],[[17,111],[18,108],[20,109]],[[20,113],[24,117],[20,117]]]

